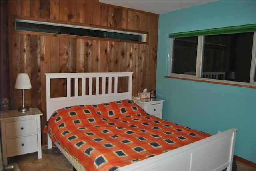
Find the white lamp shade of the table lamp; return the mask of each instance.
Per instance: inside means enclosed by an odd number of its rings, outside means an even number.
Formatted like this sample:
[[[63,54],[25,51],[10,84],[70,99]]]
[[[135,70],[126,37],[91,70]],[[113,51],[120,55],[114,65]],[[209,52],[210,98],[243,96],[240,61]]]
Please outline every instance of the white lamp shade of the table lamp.
[[[15,83],[15,89],[31,89],[30,79],[27,73],[19,73]]]

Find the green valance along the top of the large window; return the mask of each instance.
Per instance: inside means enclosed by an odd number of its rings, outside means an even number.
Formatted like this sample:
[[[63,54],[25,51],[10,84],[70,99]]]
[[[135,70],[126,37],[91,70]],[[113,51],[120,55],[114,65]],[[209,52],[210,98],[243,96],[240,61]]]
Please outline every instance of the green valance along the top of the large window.
[[[169,34],[169,38],[184,38],[184,37],[193,37],[193,36],[208,36],[208,35],[234,34],[234,33],[246,33],[246,32],[256,32],[256,24],[213,28],[213,29],[206,29],[206,30],[196,30],[191,32],[172,33],[172,34]]]

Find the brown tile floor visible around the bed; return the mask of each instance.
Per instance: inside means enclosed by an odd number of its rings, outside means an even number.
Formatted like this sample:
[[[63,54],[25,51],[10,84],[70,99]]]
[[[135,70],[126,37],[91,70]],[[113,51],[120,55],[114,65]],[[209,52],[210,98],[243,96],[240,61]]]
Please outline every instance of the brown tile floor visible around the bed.
[[[52,149],[43,147],[42,159],[38,159],[37,157],[37,153],[9,157],[8,163],[17,163],[20,171],[73,171],[72,165],[57,147],[53,147]],[[236,161],[236,164],[237,171],[256,171],[256,168],[239,161]]]

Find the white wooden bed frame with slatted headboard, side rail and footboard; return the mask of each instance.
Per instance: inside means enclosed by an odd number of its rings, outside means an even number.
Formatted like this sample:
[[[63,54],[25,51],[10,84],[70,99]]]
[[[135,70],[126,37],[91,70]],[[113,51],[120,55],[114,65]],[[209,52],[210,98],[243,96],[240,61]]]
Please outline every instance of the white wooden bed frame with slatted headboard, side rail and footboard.
[[[108,79],[112,85],[114,77],[114,92],[108,86],[105,93],[105,80]],[[118,77],[128,77],[128,92],[118,93]],[[54,78],[67,79],[67,97],[51,98],[50,80]],[[74,78],[75,95],[71,96],[71,78]],[[82,95],[78,95],[78,78],[82,79]],[[89,94],[85,93],[85,82],[89,78]],[[92,79],[96,78],[96,93],[92,93]],[[103,78],[102,85],[99,85],[99,78]],[[102,94],[99,94],[99,87],[102,87]],[[71,105],[100,104],[122,99],[132,99],[132,72],[110,72],[110,73],[52,73],[46,74],[46,105],[47,120],[52,113],[62,107]],[[185,145],[178,149],[132,163],[121,167],[120,171],[221,171],[227,168],[232,170],[234,145],[237,129],[229,129],[218,132],[216,135]],[[81,170],[76,163],[68,157],[65,150],[57,143],[56,146],[62,151],[76,170]],[[48,136],[48,148],[52,148],[52,141]]]

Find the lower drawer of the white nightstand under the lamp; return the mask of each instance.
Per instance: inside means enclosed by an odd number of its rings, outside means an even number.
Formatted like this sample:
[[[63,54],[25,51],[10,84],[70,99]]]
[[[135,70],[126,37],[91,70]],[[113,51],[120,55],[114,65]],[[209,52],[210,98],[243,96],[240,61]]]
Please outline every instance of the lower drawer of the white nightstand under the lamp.
[[[37,135],[6,139],[7,154],[37,149]]]

